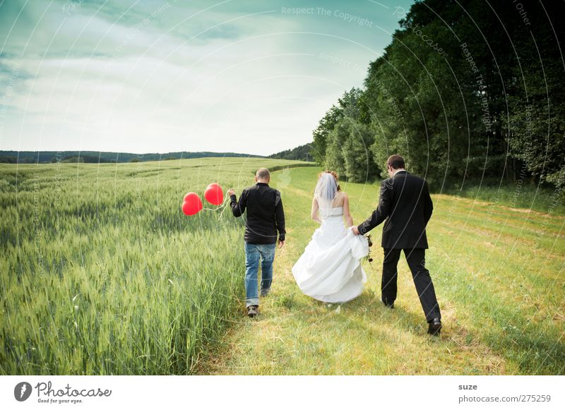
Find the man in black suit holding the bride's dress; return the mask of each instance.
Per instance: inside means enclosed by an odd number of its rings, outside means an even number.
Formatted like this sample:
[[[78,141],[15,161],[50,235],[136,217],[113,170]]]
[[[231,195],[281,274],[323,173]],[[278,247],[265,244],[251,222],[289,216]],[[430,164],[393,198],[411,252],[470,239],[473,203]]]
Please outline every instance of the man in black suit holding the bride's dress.
[[[379,206],[369,219],[353,227],[355,234],[366,234],[384,222],[382,246],[384,250],[382,300],[385,306],[394,307],[396,299],[396,265],[400,251],[404,251],[420,303],[429,323],[428,333],[439,336],[441,313],[432,278],[426,269],[425,250],[428,248],[426,225],[432,217],[432,198],[424,179],[408,174],[404,159],[392,155],[386,162],[391,178],[381,182]]]

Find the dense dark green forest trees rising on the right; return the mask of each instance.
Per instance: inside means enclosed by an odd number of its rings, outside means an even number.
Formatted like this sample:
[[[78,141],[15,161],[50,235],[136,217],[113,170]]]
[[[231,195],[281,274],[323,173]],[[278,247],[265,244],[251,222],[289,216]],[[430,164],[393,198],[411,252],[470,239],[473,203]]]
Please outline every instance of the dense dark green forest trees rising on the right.
[[[350,181],[386,176],[386,158],[435,189],[565,185],[563,1],[415,3],[362,89],[314,131],[311,155]]]

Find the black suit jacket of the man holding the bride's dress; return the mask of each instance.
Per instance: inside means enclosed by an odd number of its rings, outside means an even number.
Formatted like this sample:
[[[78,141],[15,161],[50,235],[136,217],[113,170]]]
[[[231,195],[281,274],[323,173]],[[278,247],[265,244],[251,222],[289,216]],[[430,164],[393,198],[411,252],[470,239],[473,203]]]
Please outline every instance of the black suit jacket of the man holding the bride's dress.
[[[383,248],[427,249],[426,225],[433,209],[427,182],[407,171],[398,171],[381,182],[379,206],[357,228],[366,234],[384,222]]]

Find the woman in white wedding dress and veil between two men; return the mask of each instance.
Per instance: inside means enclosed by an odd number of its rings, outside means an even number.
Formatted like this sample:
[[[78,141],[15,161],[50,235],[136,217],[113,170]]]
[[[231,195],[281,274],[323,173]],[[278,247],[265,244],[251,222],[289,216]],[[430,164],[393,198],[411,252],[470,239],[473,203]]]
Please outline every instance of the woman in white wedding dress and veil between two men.
[[[360,259],[369,253],[369,244],[365,236],[355,235],[351,229],[349,198],[340,190],[334,171],[318,176],[312,219],[321,226],[292,267],[298,287],[304,294],[323,302],[355,299],[367,281]]]

